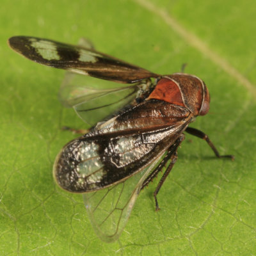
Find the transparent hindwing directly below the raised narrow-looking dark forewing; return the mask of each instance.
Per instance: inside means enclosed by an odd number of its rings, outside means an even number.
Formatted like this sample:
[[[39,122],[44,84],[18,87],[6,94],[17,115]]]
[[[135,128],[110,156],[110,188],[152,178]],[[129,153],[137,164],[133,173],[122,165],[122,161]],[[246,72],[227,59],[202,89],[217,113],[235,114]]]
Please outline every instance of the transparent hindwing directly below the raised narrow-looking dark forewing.
[[[60,101],[73,107],[86,124],[93,126],[139,97],[147,86],[143,82],[116,87],[117,83],[112,81],[67,72],[60,88]]]

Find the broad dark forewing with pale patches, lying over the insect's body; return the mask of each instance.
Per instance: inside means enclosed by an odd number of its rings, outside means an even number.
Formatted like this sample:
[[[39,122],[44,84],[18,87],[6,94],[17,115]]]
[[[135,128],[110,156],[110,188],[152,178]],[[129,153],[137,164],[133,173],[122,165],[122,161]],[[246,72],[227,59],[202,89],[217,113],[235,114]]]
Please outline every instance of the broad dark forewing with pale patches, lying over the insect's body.
[[[70,141],[56,158],[54,177],[77,193],[119,183],[153,163],[190,121],[184,107],[145,101]]]

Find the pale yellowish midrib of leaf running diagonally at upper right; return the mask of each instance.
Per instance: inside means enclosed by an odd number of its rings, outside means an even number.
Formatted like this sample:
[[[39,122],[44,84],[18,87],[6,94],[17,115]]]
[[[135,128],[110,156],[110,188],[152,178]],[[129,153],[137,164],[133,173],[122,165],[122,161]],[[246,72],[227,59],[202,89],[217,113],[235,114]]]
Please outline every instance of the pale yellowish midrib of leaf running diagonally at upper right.
[[[195,47],[199,52],[204,54],[204,56],[207,56],[209,60],[211,60],[213,63],[218,65],[218,67],[221,67],[227,74],[234,79],[236,79],[240,84],[248,90],[250,95],[252,95],[253,99],[256,99],[256,86],[252,84],[246,77],[243,76],[237,70],[234,68],[230,63],[228,63],[225,58],[222,58],[218,53],[212,51],[212,49],[205,44],[198,36],[188,31],[186,28],[184,28],[182,25],[175,20],[170,13],[166,12],[164,9],[159,8],[155,4],[151,3],[147,0],[134,0],[135,3],[140,4],[143,6],[143,8],[146,8],[148,11],[156,14],[161,19],[164,20],[164,22],[170,26],[173,31],[175,31],[180,37],[182,37],[186,42],[188,42],[189,45],[192,47]]]

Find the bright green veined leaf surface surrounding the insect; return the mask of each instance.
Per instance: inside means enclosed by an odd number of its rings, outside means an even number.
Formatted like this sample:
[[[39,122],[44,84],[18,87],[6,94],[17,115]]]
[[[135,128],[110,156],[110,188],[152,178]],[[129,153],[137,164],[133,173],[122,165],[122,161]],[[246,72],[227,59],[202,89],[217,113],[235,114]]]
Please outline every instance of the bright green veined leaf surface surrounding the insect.
[[[255,1],[1,1],[1,255],[255,255]],[[158,196],[157,180],[138,197],[118,241],[93,232],[81,195],[52,179],[58,151],[74,138],[63,125],[85,125],[62,108],[64,72],[21,58],[13,35],[76,44],[90,38],[102,52],[160,74],[186,72],[211,93],[207,116],[193,127],[221,154],[186,135]]]

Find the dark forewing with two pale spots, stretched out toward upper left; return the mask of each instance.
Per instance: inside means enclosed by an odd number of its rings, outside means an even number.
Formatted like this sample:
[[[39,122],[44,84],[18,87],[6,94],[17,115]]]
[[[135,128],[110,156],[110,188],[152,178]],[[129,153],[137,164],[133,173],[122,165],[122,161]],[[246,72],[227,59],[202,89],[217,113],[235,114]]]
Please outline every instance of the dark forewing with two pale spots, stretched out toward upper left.
[[[53,40],[13,36],[9,39],[9,44],[14,51],[29,60],[100,79],[134,83],[148,77],[159,76],[101,52]]]

